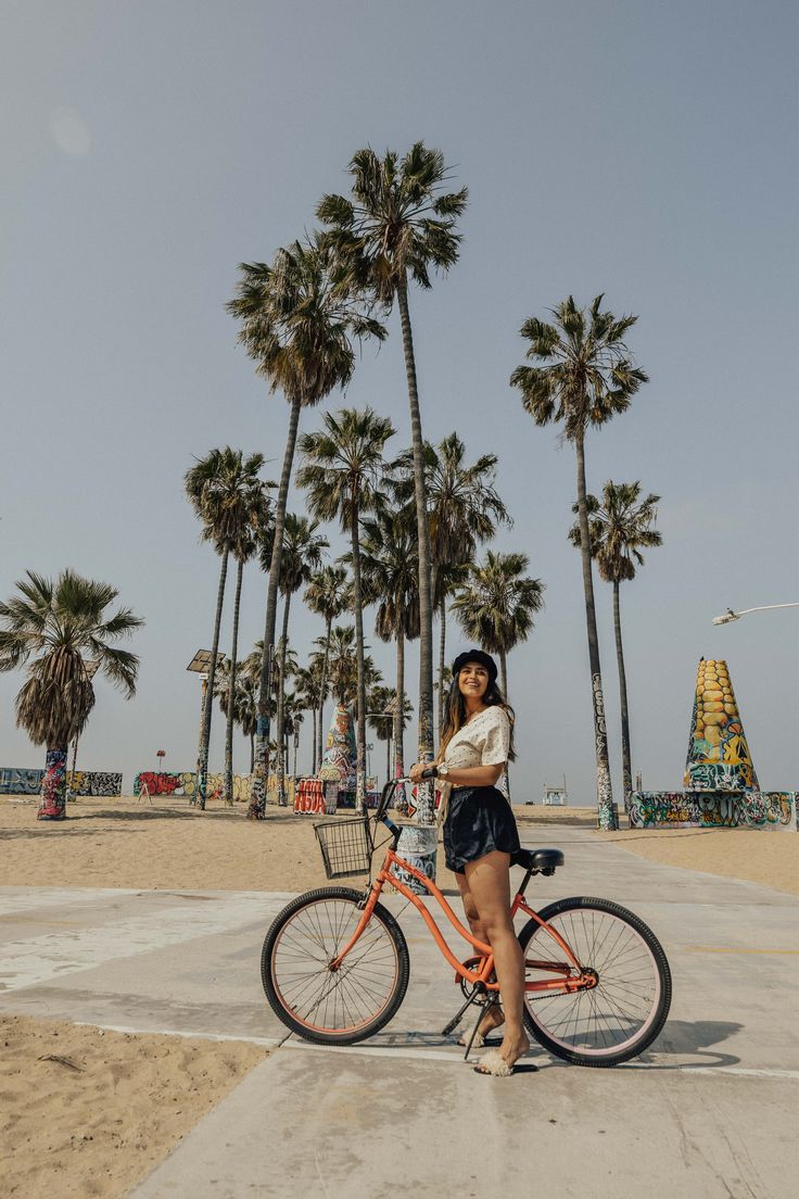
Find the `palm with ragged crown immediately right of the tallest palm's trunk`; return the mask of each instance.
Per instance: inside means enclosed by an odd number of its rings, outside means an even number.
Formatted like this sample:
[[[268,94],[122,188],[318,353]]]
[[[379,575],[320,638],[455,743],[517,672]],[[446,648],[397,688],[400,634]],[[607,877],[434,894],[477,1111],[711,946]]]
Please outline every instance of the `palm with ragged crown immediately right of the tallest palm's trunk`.
[[[466,446],[456,433],[438,442],[425,441],[424,471],[430,513],[432,598],[438,613],[438,736],[444,722],[442,677],[447,651],[447,601],[465,582],[478,544],[490,541],[497,524],[512,525],[508,510],[496,490],[497,456],[482,454],[467,466]],[[413,487],[413,454],[405,451],[394,464],[395,494],[410,500]]]

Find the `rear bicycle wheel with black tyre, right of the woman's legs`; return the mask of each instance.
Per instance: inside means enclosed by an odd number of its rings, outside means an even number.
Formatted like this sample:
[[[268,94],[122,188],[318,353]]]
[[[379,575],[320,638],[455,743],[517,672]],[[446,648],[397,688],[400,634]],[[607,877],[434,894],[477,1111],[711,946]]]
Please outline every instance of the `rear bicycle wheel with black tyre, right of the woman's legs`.
[[[609,899],[561,899],[539,916],[595,976],[594,987],[570,993],[525,992],[525,1023],[539,1044],[576,1066],[617,1066],[643,1053],[671,1005],[671,971],[654,933]],[[531,920],[519,940],[527,984],[565,978],[569,958],[546,928]]]

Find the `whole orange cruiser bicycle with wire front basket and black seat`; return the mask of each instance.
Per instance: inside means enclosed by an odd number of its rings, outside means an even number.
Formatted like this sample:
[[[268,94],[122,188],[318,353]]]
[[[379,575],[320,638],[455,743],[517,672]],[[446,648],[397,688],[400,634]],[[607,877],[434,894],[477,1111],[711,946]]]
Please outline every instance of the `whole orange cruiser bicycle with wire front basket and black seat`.
[[[329,879],[371,874],[375,831],[389,832],[377,875],[365,891],[334,886],[298,896],[276,917],[261,953],[261,980],[279,1019],[307,1041],[349,1046],[374,1036],[397,1014],[410,977],[402,930],[383,904],[391,884],[414,905],[442,954],[455,970],[464,1002],[442,1030],[447,1036],[467,1008],[480,1019],[498,1002],[491,947],[476,940],[446,898],[397,852],[400,829],[389,819],[394,779],[383,788],[374,815],[315,825]],[[380,848],[380,846],[377,846]],[[634,912],[609,899],[558,899],[534,911],[525,891],[535,874],[563,866],[558,849],[522,849],[512,864],[525,870],[512,916],[529,918],[519,932],[525,954],[525,1023],[550,1053],[579,1066],[616,1066],[642,1053],[664,1026],[671,1004],[671,972],[654,933]],[[418,894],[412,876],[438,903],[474,954],[459,962]]]

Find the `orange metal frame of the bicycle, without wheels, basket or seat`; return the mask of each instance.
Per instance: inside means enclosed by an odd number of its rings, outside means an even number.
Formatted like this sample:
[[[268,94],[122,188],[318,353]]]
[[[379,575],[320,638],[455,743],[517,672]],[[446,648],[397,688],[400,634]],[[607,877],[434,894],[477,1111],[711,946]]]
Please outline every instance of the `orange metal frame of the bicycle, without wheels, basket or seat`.
[[[377,873],[375,881],[371,884],[369,888],[368,897],[363,909],[363,916],[358,921],[357,928],[355,929],[347,945],[341,950],[338,957],[331,962],[329,969],[338,970],[341,966],[341,963],[346,958],[347,953],[350,953],[350,951],[357,944],[364,929],[369,924],[375,906],[377,905],[380,896],[382,894],[383,886],[387,882],[389,882],[397,891],[399,891],[401,896],[405,896],[405,898],[410,900],[410,903],[412,903],[416,910],[419,912],[425,924],[430,929],[432,939],[438,946],[438,950],[447,959],[447,962],[449,962],[450,966],[454,969],[455,977],[461,978],[464,982],[471,983],[472,986],[479,986],[482,989],[486,992],[498,992],[500,989],[498,983],[490,981],[491,975],[494,974],[494,954],[491,952],[491,946],[485,945],[483,944],[483,941],[478,941],[477,938],[472,936],[471,932],[467,932],[464,924],[459,921],[458,916],[455,916],[455,912],[452,910],[443,893],[438,890],[435,882],[432,882],[420,870],[417,870],[414,866],[411,866],[411,863],[407,862],[404,857],[399,856],[395,849],[397,838],[399,837],[399,829],[397,827],[397,825],[393,824],[393,821],[387,819],[385,814],[385,808],[381,814],[380,808],[382,807],[383,805],[381,802],[379,807],[377,820],[380,820],[392,831],[394,838],[394,845],[386,851],[383,864],[380,868],[380,872]],[[466,963],[458,960],[455,954],[449,948],[449,945],[444,940],[443,935],[441,934],[441,930],[438,929],[438,926],[436,924],[435,920],[432,918],[425,905],[422,903],[419,896],[416,894],[413,891],[411,891],[411,888],[406,886],[405,882],[394,873],[397,868],[405,870],[407,874],[412,875],[412,878],[414,878],[418,882],[420,882],[425,887],[428,893],[431,894],[432,898],[436,900],[436,903],[438,904],[438,906],[441,908],[441,910],[443,911],[444,916],[453,926],[455,932],[459,933],[460,936],[464,938],[464,940],[468,941],[474,950],[477,950],[482,959],[479,969],[470,970]],[[534,873],[533,870],[527,870],[527,873],[525,874],[522,885],[514,896],[513,903],[510,905],[510,918],[513,920],[517,912],[523,911],[527,916],[534,920],[541,928],[546,929],[550,936],[553,938],[553,940],[558,944],[558,946],[565,954],[567,960],[563,963],[558,963],[558,962],[527,959],[525,963],[527,968],[533,968],[540,971],[553,974],[557,975],[558,977],[552,980],[541,980],[541,981],[526,980],[525,992],[528,994],[529,993],[543,994],[543,993],[557,993],[557,992],[559,992],[561,994],[571,994],[573,992],[576,990],[589,990],[592,987],[597,984],[595,976],[583,972],[582,966],[580,965],[576,957],[571,952],[567,941],[563,940],[563,938],[555,928],[547,924],[546,921],[541,920],[538,912],[533,911],[529,904],[527,904],[525,900],[525,888],[533,873]]]

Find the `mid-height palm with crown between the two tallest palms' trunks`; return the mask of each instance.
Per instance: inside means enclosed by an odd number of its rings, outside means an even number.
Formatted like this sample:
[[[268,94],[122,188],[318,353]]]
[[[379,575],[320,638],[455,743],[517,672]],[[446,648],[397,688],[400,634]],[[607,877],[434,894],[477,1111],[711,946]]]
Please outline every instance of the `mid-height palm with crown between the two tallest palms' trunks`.
[[[310,511],[321,520],[338,518],[352,546],[352,590],[358,665],[356,707],[356,808],[363,811],[367,745],[367,687],[363,668],[363,609],[361,595],[362,512],[375,504],[376,484],[383,469],[383,450],[394,434],[386,416],[371,408],[357,411],[341,409],[335,416],[325,414],[321,433],[305,433],[299,446],[303,466],[297,472],[299,487],[308,488]]]

